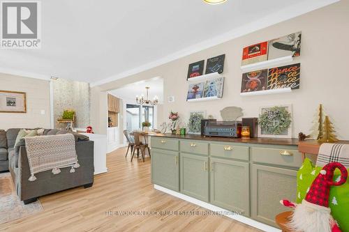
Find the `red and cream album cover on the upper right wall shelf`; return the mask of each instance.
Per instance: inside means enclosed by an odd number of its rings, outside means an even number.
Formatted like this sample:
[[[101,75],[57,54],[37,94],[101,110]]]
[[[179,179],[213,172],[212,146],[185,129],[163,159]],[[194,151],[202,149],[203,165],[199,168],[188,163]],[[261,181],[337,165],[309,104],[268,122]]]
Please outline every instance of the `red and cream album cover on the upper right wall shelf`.
[[[242,65],[249,65],[268,59],[268,42],[260,42],[244,47],[242,50]]]

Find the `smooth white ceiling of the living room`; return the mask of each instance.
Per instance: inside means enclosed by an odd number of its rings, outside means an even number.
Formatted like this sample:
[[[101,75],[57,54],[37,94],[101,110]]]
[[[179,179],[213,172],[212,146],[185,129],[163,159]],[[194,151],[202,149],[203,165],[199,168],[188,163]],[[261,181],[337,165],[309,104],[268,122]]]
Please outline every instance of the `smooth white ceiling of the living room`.
[[[338,0],[45,0],[42,48],[2,49],[0,72],[103,84]]]

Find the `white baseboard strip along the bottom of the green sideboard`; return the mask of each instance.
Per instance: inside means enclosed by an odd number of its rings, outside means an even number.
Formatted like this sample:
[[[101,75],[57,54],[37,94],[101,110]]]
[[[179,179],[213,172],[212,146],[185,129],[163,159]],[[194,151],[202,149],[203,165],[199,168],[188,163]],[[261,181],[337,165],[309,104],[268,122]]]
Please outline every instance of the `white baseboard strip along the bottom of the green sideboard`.
[[[191,196],[186,196],[184,194],[181,194],[179,192],[175,192],[173,190],[169,190],[168,188],[165,188],[165,187],[161,187],[160,185],[154,185],[154,189],[156,190],[159,190],[161,192],[165,192],[167,194],[170,194],[172,196],[176,196],[178,197],[179,199],[182,199],[184,201],[188,201],[190,203],[193,203],[197,206],[201,206],[202,208],[206,208],[207,210],[211,210],[211,211],[214,211],[214,212],[218,212],[218,213],[221,213],[222,215],[224,215],[225,217],[229,217],[231,219],[234,219],[234,220],[237,220],[238,222],[242,222],[244,224],[247,224],[248,226],[253,226],[257,229],[260,229],[262,231],[267,231],[267,232],[281,232],[281,230],[279,229],[276,229],[272,226],[268,226],[266,224],[262,224],[260,222],[257,222],[251,218],[248,218],[248,217],[244,217],[244,216],[241,216],[241,215],[231,215],[228,211],[228,210],[225,210],[223,208],[220,208],[218,206],[214,206],[214,205],[211,205],[210,203],[207,203],[205,201],[200,201],[198,199],[195,199]]]

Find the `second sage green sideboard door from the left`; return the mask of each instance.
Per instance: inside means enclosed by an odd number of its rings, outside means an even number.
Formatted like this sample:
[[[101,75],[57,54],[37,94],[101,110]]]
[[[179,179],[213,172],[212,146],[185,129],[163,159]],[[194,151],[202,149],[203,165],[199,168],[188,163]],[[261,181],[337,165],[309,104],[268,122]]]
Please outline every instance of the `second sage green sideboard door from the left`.
[[[151,157],[153,158],[153,157]],[[181,193],[209,201],[209,158],[181,153]]]

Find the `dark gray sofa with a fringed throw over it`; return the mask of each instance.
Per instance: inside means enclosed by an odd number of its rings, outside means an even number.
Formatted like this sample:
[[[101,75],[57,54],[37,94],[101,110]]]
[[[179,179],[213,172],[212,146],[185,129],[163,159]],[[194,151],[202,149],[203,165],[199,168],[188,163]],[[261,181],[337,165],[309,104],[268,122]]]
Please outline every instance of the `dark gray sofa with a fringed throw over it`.
[[[54,175],[52,171],[36,173],[36,180],[29,181],[29,163],[25,144],[15,147],[19,128],[6,132],[0,130],[0,171],[10,171],[17,195],[25,204],[34,202],[38,196],[68,190],[72,187],[91,187],[94,183],[94,141],[81,134],[74,134],[77,160],[80,167],[70,173],[70,168],[61,169]],[[45,129],[44,135],[64,134],[66,130]]]

